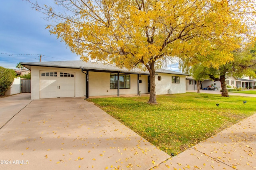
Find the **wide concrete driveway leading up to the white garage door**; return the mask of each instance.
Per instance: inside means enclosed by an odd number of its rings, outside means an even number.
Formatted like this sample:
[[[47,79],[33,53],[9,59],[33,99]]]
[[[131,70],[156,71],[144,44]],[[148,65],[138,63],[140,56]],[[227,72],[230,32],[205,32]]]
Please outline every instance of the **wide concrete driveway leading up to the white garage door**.
[[[148,170],[170,158],[82,98],[15,96],[0,99],[0,169]]]

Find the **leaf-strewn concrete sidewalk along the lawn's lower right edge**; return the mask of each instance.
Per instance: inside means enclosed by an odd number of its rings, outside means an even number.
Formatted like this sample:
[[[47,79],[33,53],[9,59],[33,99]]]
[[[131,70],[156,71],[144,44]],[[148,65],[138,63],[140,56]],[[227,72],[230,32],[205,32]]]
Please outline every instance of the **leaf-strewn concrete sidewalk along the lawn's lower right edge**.
[[[255,170],[255,153],[256,114],[174,156],[158,168]]]

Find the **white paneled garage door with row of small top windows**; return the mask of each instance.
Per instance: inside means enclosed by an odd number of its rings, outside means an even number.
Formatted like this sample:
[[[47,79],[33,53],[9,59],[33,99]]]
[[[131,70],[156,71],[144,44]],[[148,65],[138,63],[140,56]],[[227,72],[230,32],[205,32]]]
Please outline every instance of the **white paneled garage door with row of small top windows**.
[[[74,97],[74,72],[40,72],[40,98]]]

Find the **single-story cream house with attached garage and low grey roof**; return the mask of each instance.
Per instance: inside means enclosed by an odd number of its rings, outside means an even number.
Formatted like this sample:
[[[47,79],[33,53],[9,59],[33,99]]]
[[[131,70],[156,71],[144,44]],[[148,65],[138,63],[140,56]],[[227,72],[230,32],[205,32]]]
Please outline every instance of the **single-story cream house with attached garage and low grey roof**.
[[[31,99],[147,94],[149,72],[103,63],[53,61],[21,63],[31,71]],[[156,70],[156,94],[186,92],[188,74]],[[119,80],[119,86],[118,86]]]

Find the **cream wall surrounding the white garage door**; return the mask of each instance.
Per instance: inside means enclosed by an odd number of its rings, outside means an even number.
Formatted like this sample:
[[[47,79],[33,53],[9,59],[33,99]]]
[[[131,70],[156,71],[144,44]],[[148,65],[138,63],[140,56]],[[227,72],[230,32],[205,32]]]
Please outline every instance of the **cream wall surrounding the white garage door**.
[[[75,74],[75,97],[85,95],[85,74],[80,69],[31,66],[31,99],[40,99],[40,71],[66,71]],[[90,74],[89,74],[90,75]]]

